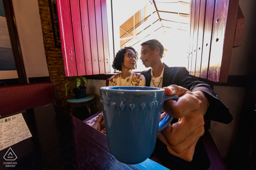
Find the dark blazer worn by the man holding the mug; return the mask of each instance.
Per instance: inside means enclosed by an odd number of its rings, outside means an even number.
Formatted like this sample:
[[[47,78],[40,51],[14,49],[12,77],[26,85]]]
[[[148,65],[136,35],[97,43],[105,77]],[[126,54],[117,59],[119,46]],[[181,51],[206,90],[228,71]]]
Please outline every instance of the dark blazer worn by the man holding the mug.
[[[149,87],[151,82],[151,69],[148,71],[142,71],[140,74],[144,75],[146,79],[146,86]],[[224,105],[212,88],[208,84],[190,77],[189,72],[185,67],[168,67],[165,64],[162,81],[162,87],[176,84],[177,86],[182,86],[192,92],[197,90],[204,92],[209,100],[209,107],[204,118],[226,124],[233,120],[233,116],[230,114],[229,108]]]

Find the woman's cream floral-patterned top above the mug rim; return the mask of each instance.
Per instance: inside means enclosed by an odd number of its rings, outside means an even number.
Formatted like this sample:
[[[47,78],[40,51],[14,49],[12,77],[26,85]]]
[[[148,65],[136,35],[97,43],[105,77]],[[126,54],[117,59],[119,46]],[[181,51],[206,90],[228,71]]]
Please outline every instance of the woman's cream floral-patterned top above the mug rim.
[[[128,86],[130,76],[123,79],[122,73],[113,75],[109,80],[109,86],[120,86],[119,81],[121,79],[121,86]],[[142,74],[134,73],[132,75],[132,81],[130,86],[146,86],[145,77]]]

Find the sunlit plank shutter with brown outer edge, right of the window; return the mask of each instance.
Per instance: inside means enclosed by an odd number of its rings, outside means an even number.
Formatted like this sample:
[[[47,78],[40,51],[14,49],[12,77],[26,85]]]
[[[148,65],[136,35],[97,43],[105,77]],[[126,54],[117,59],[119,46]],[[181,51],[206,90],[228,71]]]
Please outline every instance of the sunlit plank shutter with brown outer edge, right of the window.
[[[238,0],[191,0],[188,71],[214,82],[226,82]]]

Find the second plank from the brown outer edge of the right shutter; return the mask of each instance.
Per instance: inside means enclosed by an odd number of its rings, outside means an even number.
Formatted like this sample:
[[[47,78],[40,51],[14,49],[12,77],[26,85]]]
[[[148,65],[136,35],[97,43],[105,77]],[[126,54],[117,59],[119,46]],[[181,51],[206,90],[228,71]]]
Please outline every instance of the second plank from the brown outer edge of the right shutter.
[[[203,36],[203,47],[202,47],[202,61],[200,78],[207,79],[208,74],[208,63],[210,57],[211,47],[211,34],[212,34],[212,19],[214,15],[214,0],[206,1],[206,12],[205,12],[205,23],[204,23],[204,36]]]

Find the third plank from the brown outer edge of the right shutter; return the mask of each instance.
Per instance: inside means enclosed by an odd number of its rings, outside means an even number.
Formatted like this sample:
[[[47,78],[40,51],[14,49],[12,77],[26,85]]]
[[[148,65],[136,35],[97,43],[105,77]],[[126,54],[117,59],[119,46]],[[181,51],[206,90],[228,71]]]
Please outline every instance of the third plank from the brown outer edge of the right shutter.
[[[197,38],[197,54],[196,54],[196,71],[195,76],[200,77],[201,59],[203,50],[203,37],[204,37],[204,14],[206,8],[206,0],[200,1],[200,16],[198,26],[198,38]]]

